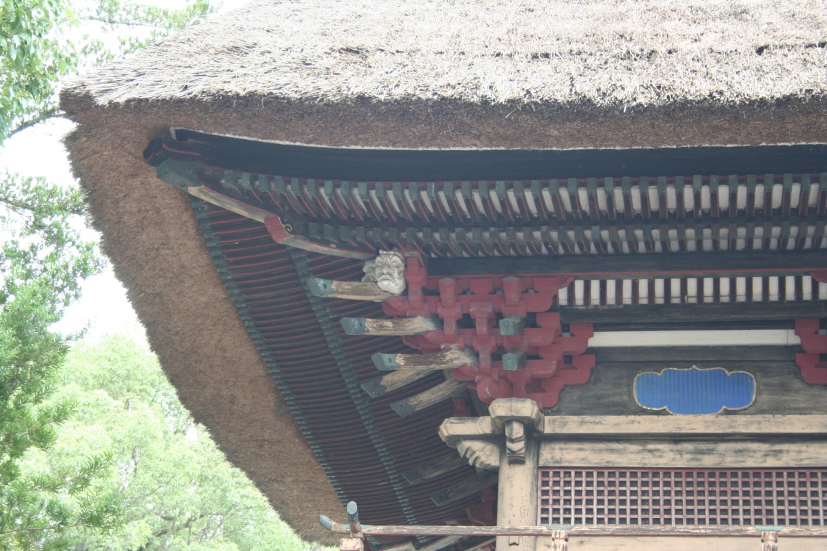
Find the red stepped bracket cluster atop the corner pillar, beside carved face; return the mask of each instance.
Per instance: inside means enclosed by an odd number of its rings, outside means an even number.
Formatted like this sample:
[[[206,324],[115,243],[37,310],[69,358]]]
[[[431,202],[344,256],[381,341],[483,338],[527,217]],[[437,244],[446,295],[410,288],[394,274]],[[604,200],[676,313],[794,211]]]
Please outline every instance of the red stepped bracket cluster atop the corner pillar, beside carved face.
[[[591,324],[571,324],[562,335],[560,314],[549,312],[570,276],[552,278],[476,277],[428,278],[422,259],[406,254],[407,297],[390,297],[382,303],[390,316],[433,316],[442,320],[442,330],[403,337],[405,344],[423,354],[440,350],[474,349],[479,361],[452,368],[458,381],[471,382],[481,401],[528,397],[538,406],[557,405],[563,387],[585,384],[595,358],[583,355],[594,336]],[[498,316],[536,314],[536,327],[523,328],[519,335],[501,335]],[[460,326],[471,321],[473,328]],[[520,367],[505,370],[497,359],[522,350]],[[564,357],[571,356],[571,363]],[[530,359],[529,359],[530,358]],[[511,368],[514,364],[509,363]]]

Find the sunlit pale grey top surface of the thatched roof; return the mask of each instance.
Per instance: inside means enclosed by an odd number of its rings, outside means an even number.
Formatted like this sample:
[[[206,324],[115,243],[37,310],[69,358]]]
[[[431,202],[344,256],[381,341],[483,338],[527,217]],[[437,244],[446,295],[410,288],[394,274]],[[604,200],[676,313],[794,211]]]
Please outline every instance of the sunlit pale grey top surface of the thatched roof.
[[[825,41],[816,0],[257,0],[78,86],[101,105],[748,105],[824,97]]]

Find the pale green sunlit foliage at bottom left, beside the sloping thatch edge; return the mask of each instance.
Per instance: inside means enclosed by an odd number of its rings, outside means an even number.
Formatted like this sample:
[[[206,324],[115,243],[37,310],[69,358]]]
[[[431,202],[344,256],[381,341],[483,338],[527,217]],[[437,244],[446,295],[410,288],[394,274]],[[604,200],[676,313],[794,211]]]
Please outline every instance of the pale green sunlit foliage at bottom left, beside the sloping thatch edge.
[[[119,336],[75,345],[52,401],[69,398],[77,414],[26,468],[59,472],[108,451],[115,468],[100,491],[117,496],[127,522],[107,534],[68,530],[67,549],[312,549],[194,424],[154,354]]]

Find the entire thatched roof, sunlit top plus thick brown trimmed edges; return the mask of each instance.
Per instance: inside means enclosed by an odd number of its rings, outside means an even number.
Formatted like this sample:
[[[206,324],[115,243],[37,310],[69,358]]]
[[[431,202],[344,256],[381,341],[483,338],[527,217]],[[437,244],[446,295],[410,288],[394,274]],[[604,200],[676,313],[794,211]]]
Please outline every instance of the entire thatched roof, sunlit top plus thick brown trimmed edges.
[[[822,3],[803,0],[258,0],[75,80],[61,106],[78,123],[67,145],[103,249],[182,401],[284,520],[332,543],[318,514],[342,518],[342,494],[240,320],[193,208],[144,163],[150,140],[178,127],[398,149],[827,143],[825,22]],[[368,358],[351,362],[368,369]],[[342,392],[328,403],[351,407]],[[342,422],[326,411],[306,414]],[[437,424],[422,434],[436,438]],[[413,461],[399,450],[403,467]],[[392,469],[366,470],[381,482],[351,485],[396,500]],[[433,522],[427,492],[404,492]],[[408,521],[397,501],[377,501],[399,516],[390,524]]]

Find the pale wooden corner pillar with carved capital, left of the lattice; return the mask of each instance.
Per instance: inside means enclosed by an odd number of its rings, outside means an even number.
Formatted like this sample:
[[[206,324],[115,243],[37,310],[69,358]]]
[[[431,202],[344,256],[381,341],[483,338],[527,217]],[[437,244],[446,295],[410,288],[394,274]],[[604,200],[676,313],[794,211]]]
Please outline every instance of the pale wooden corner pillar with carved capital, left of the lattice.
[[[500,480],[497,500],[498,526],[538,524],[538,458],[543,414],[528,399],[509,398],[491,404],[491,417],[504,436],[500,445]],[[497,551],[534,551],[533,536],[498,536]]]

